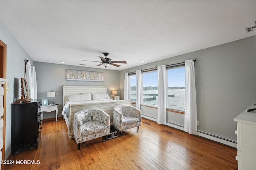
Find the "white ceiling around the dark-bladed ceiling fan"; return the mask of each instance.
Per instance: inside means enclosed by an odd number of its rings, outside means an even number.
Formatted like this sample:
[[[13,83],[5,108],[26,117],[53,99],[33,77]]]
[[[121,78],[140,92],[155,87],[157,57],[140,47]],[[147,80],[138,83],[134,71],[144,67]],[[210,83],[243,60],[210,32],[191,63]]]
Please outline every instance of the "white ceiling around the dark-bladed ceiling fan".
[[[0,21],[33,61],[95,68],[82,60],[107,52],[124,70],[256,35],[256,0],[0,0]]]

